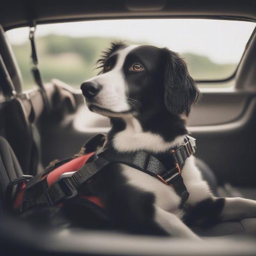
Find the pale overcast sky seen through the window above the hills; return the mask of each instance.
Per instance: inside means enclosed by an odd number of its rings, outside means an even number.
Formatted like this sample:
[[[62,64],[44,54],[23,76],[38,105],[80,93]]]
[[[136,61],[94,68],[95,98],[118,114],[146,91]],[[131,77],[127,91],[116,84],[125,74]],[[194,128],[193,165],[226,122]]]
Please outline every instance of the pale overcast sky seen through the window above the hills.
[[[143,41],[176,52],[207,55],[217,63],[237,63],[254,27],[255,23],[230,20],[99,20],[38,25],[36,36],[101,36]],[[28,38],[28,29],[14,29],[7,34],[13,44],[22,44]]]

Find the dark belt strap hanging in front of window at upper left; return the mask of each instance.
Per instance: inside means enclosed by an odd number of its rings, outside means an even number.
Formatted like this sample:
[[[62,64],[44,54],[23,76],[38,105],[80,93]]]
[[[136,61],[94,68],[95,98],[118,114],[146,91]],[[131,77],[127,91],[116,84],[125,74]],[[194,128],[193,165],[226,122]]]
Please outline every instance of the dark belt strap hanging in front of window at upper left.
[[[46,111],[47,113],[50,113],[50,104],[49,104],[47,93],[44,87],[43,78],[41,76],[41,72],[38,64],[38,57],[37,57],[37,52],[35,47],[35,30],[36,30],[36,23],[35,23],[35,20],[33,20],[29,30],[29,40],[31,44],[31,59],[33,64],[31,71],[32,71],[32,75],[34,77],[35,83],[38,85],[38,87],[41,90]]]

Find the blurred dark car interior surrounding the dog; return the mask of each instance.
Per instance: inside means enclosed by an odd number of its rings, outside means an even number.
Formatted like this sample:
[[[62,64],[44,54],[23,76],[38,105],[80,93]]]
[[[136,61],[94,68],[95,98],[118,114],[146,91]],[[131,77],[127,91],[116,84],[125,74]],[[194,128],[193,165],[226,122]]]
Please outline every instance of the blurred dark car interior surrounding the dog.
[[[192,108],[188,130],[197,140],[196,164],[214,195],[256,200],[255,1],[9,0],[0,6],[0,254],[255,255],[256,218],[191,227],[204,238],[200,243],[89,228],[38,229],[5,211],[9,182],[43,172],[52,160],[73,156],[90,137],[106,133],[110,127],[108,119],[85,111],[79,90],[83,80],[73,87],[52,71],[51,80],[44,82],[40,69],[43,43],[37,44],[35,30],[47,24],[108,20],[175,18],[250,23],[241,58],[229,76],[195,78],[202,97]],[[15,29],[20,28],[27,29],[29,47],[23,54],[28,59],[32,56],[33,87],[26,84],[8,36],[14,31],[15,37]],[[240,37],[239,32],[236,37]]]

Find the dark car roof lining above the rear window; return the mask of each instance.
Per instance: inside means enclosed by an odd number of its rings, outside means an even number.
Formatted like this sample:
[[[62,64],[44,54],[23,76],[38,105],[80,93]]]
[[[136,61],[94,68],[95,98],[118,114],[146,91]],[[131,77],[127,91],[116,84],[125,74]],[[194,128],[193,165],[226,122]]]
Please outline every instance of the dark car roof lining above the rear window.
[[[9,0],[0,9],[0,24],[5,30],[18,26],[29,26],[32,20],[37,24],[67,22],[74,20],[95,20],[113,18],[146,17],[201,17],[256,20],[256,2],[226,1],[167,1],[167,0],[94,0],[84,1]],[[228,4],[230,3],[230,4]],[[253,8],[255,7],[255,8]],[[12,14],[12,15],[10,15]]]

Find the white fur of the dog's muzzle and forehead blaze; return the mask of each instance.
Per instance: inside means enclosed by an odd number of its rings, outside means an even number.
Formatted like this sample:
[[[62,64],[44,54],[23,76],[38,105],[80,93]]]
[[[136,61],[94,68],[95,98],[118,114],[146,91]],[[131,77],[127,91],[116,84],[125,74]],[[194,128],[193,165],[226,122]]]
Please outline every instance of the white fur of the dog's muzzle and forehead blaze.
[[[136,47],[136,45],[131,45],[117,51],[116,54],[118,57],[116,65],[111,71],[85,81],[95,81],[97,84],[102,86],[102,90],[94,98],[93,105],[113,112],[125,112],[130,110],[130,106],[128,105],[126,98],[127,87],[122,74],[122,66],[127,54]],[[105,115],[105,111],[97,112]]]

